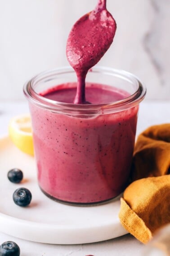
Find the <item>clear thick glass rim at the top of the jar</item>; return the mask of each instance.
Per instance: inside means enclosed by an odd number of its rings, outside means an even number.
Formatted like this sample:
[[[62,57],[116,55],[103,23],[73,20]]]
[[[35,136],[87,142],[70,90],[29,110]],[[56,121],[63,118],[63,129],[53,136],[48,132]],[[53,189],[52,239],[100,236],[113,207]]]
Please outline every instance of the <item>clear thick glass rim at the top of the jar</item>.
[[[64,73],[74,73],[75,71],[72,67],[65,66],[61,68],[55,68],[53,70],[46,70],[37,74],[33,78],[31,78],[28,82],[26,82],[23,86],[23,92],[26,98],[34,103],[37,106],[49,109],[51,111],[56,111],[58,108],[65,108],[66,112],[69,111],[81,111],[81,113],[86,111],[94,111],[98,109],[106,109],[112,108],[114,112],[128,109],[130,107],[134,107],[135,105],[141,102],[146,94],[146,87],[140,82],[140,80],[130,72],[125,70],[118,70],[103,66],[95,66],[89,70],[89,72],[102,72],[103,74],[112,74],[115,77],[119,77],[121,79],[130,80],[131,82],[137,84],[137,90],[130,94],[130,96],[111,103],[102,103],[102,104],[74,104],[74,103],[65,103],[58,102],[48,98],[41,96],[39,93],[33,88],[35,83],[40,82],[42,79],[48,79],[52,75],[64,74]]]

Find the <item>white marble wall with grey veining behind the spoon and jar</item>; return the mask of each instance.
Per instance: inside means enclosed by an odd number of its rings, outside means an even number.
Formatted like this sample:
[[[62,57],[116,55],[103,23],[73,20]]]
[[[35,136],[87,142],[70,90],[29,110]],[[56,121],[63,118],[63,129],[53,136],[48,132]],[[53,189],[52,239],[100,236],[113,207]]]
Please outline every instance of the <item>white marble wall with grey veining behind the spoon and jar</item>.
[[[68,65],[72,24],[97,0],[0,0],[0,100],[23,99],[22,85],[41,71]],[[98,65],[128,70],[147,99],[170,100],[170,0],[107,0],[114,43]]]

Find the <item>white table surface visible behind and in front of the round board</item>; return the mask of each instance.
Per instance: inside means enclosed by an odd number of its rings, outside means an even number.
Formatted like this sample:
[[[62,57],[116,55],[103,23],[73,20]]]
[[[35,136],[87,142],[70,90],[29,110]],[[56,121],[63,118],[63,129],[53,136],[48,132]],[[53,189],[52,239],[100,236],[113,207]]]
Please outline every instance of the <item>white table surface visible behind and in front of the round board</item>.
[[[0,102],[0,135],[7,134],[7,127],[11,117],[28,111],[26,101]],[[170,101],[142,102],[139,110],[137,135],[148,126],[161,123],[170,123]],[[8,240],[18,243],[21,249],[21,256],[142,256],[144,247],[142,243],[130,234],[92,244],[48,245],[25,241],[0,233],[0,244]]]

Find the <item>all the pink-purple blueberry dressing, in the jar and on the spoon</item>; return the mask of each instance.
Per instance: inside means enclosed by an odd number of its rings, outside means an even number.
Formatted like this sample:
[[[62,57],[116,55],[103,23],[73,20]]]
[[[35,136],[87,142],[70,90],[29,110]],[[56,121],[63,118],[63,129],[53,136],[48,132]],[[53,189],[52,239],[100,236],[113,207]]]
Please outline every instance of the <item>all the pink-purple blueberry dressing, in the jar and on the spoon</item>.
[[[57,102],[101,104],[123,100],[125,91],[86,83],[88,70],[110,47],[116,23],[106,0],[73,26],[67,40],[67,58],[76,83],[59,84],[41,96]],[[76,96],[75,96],[76,95]],[[74,104],[73,104],[74,103]],[[41,190],[51,198],[76,204],[110,200],[127,186],[134,149],[138,106],[94,115],[77,111],[49,111],[29,102],[34,148]]]

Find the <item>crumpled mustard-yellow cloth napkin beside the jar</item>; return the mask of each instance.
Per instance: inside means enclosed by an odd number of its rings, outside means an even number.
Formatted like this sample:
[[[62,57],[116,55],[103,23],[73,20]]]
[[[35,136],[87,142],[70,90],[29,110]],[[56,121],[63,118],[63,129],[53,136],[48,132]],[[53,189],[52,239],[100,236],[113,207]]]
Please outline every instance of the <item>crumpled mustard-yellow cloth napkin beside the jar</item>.
[[[132,183],[121,198],[119,219],[139,241],[147,243],[170,223],[170,124],[151,126],[134,148]]]

